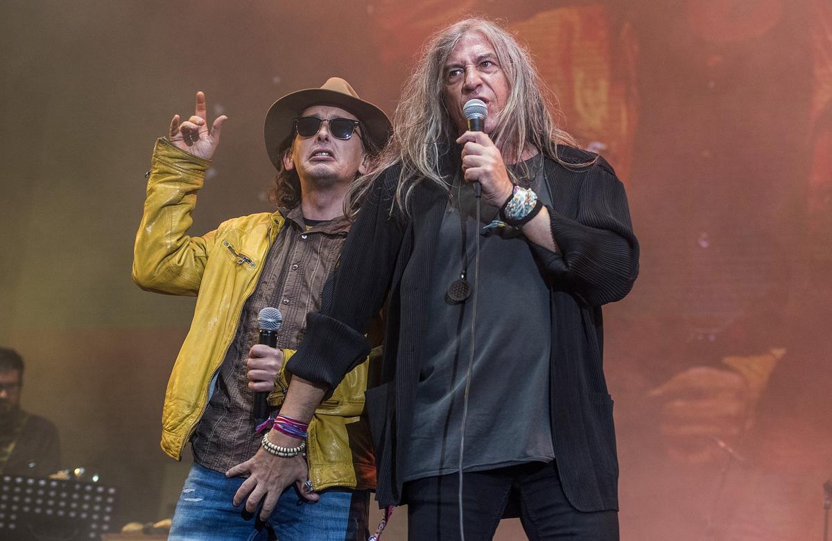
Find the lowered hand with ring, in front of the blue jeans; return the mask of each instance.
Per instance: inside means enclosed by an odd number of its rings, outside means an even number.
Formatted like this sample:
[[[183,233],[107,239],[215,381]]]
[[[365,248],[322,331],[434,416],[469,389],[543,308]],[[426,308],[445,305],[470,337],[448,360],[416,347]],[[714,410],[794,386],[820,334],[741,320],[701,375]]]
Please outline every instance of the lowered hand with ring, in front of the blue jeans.
[[[242,504],[245,500],[245,510],[254,513],[260,500],[263,500],[260,520],[265,522],[275,510],[280,494],[283,494],[285,488],[293,481],[301,496],[310,502],[318,501],[318,494],[306,492],[304,488],[308,473],[309,467],[301,455],[285,459],[260,449],[249,460],[226,471],[225,477],[249,475],[234,494],[234,506]]]

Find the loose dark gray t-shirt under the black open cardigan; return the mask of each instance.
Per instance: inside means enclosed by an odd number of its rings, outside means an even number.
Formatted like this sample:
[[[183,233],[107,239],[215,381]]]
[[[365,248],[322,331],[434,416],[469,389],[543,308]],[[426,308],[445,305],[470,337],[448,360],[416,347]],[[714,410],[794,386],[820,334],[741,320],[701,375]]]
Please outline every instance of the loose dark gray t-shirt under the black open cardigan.
[[[532,189],[548,204],[540,156],[527,160],[526,166],[534,176]],[[521,176],[522,170],[517,173]],[[431,316],[423,337],[405,481],[446,475],[458,471],[459,465],[473,293],[465,302],[452,302],[446,291],[463,268],[473,285],[474,235],[492,221],[497,209],[483,204],[478,224],[471,186],[455,180],[452,194],[431,273]],[[549,290],[527,239],[508,228],[481,234],[463,471],[554,459],[549,419],[551,325]]]

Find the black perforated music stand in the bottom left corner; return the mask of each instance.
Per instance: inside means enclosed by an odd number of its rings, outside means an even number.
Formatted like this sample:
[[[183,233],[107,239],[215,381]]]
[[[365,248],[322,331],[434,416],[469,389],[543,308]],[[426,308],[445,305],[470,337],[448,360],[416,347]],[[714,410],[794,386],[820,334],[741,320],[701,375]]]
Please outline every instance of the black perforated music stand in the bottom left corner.
[[[101,484],[3,475],[0,541],[97,541],[116,504],[116,489]]]

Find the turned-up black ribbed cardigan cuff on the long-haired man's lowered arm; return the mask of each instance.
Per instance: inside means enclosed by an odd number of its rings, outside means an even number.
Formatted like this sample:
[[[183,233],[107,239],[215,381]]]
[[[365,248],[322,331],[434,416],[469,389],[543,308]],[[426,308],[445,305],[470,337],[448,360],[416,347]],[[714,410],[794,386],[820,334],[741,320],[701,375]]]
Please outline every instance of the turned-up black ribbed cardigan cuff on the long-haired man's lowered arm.
[[[310,312],[306,336],[298,351],[284,363],[293,376],[334,389],[344,375],[369,354],[367,338],[352,327],[329,316]]]

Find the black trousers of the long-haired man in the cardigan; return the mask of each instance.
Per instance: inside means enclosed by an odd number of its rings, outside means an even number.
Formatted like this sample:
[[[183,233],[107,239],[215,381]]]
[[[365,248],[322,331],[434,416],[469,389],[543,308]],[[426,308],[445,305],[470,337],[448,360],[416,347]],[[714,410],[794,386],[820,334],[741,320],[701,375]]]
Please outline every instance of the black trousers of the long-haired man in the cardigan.
[[[458,479],[450,474],[404,484],[409,541],[460,539]],[[563,494],[555,463],[532,462],[463,474],[465,541],[492,539],[510,503],[519,507],[523,530],[532,541],[618,539],[617,511],[578,511]]]

